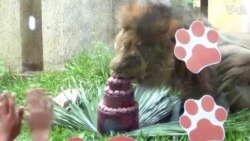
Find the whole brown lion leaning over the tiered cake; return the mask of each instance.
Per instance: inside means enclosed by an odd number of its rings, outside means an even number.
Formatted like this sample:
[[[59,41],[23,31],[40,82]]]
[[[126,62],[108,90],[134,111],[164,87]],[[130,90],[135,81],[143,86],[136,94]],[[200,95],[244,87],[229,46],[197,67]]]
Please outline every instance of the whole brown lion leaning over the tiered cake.
[[[249,108],[250,40],[220,33],[221,63],[191,73],[174,56],[175,32],[195,20],[188,15],[161,3],[125,4],[118,16],[112,73],[149,88],[168,86],[183,100],[209,94],[232,112]],[[199,20],[211,26],[206,18]]]

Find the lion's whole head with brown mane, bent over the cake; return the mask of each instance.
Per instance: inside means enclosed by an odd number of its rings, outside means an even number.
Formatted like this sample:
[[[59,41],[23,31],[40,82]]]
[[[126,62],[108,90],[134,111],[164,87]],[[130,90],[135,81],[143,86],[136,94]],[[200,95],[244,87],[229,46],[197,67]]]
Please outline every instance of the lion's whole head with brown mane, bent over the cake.
[[[115,74],[147,85],[168,81],[174,67],[170,13],[161,7],[153,8],[130,7],[126,11],[130,14],[125,12],[129,19],[121,17],[123,25],[116,36],[115,56],[111,62]],[[135,16],[133,20],[131,15]]]

